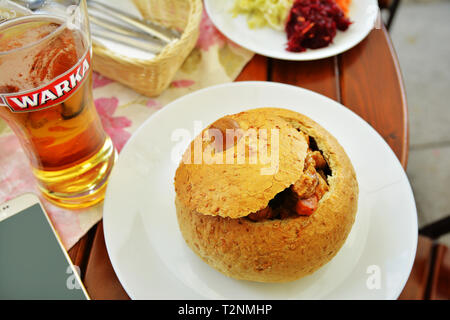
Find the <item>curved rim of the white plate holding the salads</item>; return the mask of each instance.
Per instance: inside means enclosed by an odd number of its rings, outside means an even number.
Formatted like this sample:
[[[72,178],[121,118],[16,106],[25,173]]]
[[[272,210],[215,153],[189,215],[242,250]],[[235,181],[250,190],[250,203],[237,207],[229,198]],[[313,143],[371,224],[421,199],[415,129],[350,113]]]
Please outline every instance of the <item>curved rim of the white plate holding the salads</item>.
[[[279,60],[285,60],[285,61],[314,61],[314,60],[321,60],[321,59],[326,59],[326,58],[330,58],[330,57],[334,57],[337,56],[339,54],[342,54],[352,48],[354,48],[355,46],[357,46],[359,43],[361,43],[365,38],[367,38],[367,36],[369,35],[369,33],[375,28],[376,26],[376,21],[378,19],[378,17],[380,16],[380,11],[378,9],[378,14],[374,16],[373,21],[370,23],[372,25],[372,28],[366,30],[365,32],[361,33],[360,37],[357,37],[356,40],[354,41],[350,41],[347,45],[344,45],[340,50],[336,50],[336,51],[331,51],[329,53],[322,53],[320,54],[320,52],[323,52],[321,49],[325,49],[325,48],[318,48],[318,49],[313,49],[314,52],[316,52],[316,55],[313,55],[312,57],[310,55],[304,55],[305,52],[297,52],[296,55],[292,54],[289,56],[284,56],[284,55],[276,55],[276,54],[271,54],[271,53],[267,53],[264,52],[264,50],[255,50],[255,48],[250,48],[249,46],[247,46],[245,44],[245,42],[243,41],[236,41],[236,38],[231,35],[230,33],[227,31],[224,31],[215,21],[215,15],[211,14],[211,7],[210,7],[210,1],[211,0],[204,0],[204,7],[205,10],[208,14],[209,19],[211,20],[211,22],[214,24],[214,26],[217,28],[217,30],[219,30],[224,36],[226,36],[228,39],[230,39],[231,41],[235,42],[236,44],[240,45],[241,47],[250,50],[254,53],[257,53],[259,55],[268,57],[268,58],[272,58],[272,59],[279,59]],[[357,1],[357,0],[354,0]],[[376,0],[369,0],[372,1],[373,4],[376,5]],[[284,48],[283,48],[284,50]],[[286,51],[286,50],[284,50]],[[283,51],[283,52],[284,52]],[[288,51],[286,51],[288,52]],[[289,52],[292,53],[292,52]],[[308,57],[309,56],[309,57]]]

